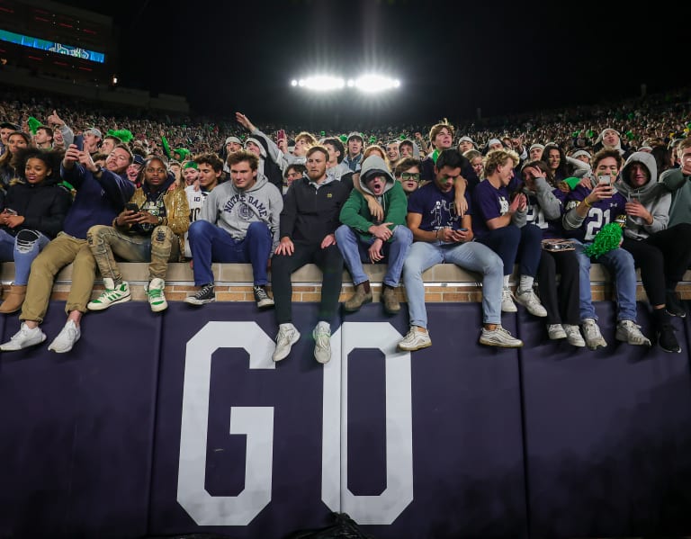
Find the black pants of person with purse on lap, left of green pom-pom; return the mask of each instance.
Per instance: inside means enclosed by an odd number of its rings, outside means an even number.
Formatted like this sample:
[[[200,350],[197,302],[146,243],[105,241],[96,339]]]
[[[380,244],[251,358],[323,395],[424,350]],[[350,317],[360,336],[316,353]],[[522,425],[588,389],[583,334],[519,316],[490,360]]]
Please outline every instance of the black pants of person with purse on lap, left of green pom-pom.
[[[559,286],[557,274],[561,274]],[[552,253],[543,249],[537,266],[537,289],[548,324],[579,325],[579,259],[574,251]]]

